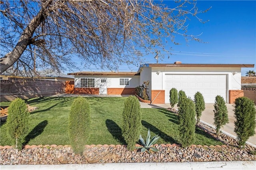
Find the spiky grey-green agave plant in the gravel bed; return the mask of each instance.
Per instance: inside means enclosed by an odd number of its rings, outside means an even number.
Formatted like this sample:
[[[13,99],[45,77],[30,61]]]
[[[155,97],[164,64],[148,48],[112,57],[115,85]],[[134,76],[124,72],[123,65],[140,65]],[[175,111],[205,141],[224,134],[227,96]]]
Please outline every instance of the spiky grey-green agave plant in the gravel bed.
[[[154,136],[151,140],[150,140],[150,130],[148,129],[148,136],[146,139],[146,143],[144,142],[144,139],[142,138],[142,136],[140,135],[140,139],[139,142],[142,144],[142,146],[137,147],[138,149],[141,148],[140,152],[148,152],[150,154],[150,150],[152,150],[153,152],[158,152],[159,150],[154,148],[154,147],[150,147],[153,144],[155,144],[157,142],[157,140],[159,139],[159,136],[156,135]]]

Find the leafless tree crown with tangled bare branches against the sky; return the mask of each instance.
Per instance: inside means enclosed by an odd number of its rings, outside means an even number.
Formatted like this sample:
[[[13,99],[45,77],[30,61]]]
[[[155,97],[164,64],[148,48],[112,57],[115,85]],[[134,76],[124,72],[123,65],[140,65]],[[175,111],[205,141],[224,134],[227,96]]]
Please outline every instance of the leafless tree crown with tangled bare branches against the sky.
[[[186,23],[189,17],[204,22],[197,15],[208,10],[198,11],[196,2],[186,0],[172,6],[152,0],[1,3],[1,73],[15,71],[18,63],[20,72],[28,74],[35,63],[40,69],[74,68],[74,56],[85,67],[118,70],[122,63],[138,65],[144,59],[141,49],[146,54],[158,49],[169,52],[167,43],[179,44],[175,35],[200,42],[187,33]]]

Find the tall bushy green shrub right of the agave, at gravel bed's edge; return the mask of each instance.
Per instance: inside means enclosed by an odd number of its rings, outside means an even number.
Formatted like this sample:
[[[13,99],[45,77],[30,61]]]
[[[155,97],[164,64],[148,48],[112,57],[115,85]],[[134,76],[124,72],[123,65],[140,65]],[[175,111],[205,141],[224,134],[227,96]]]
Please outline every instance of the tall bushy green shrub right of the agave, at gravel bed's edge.
[[[181,98],[179,103],[179,130],[183,147],[194,143],[196,130],[195,104],[191,99]]]

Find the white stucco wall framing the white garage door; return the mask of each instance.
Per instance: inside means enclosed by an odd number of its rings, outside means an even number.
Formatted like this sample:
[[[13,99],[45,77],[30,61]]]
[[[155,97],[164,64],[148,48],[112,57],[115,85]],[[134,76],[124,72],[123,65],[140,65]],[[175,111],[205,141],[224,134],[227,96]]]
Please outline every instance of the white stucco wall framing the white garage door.
[[[157,72],[159,74],[157,74]],[[152,67],[152,90],[164,90],[164,82],[166,74],[212,74],[226,75],[227,94],[226,102],[228,102],[229,90],[241,89],[241,68],[237,67]]]

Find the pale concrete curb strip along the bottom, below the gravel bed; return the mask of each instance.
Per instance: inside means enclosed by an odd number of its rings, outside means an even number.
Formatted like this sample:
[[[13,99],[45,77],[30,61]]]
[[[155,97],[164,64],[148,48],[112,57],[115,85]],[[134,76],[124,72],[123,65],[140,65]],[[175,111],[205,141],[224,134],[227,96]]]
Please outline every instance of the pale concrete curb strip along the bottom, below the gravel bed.
[[[255,170],[256,161],[1,165],[1,170]]]

